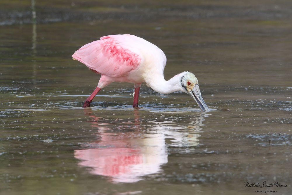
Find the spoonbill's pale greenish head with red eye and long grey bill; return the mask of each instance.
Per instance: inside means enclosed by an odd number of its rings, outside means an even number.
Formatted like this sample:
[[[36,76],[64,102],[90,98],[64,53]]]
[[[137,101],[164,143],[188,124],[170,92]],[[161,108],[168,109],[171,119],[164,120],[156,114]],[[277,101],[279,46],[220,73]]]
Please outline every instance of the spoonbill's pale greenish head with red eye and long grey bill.
[[[193,73],[184,72],[181,74],[180,82],[184,90],[183,92],[190,94],[192,98],[194,98],[201,111],[208,111],[209,108],[201,95],[199,82],[195,75]]]

